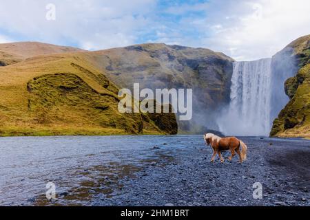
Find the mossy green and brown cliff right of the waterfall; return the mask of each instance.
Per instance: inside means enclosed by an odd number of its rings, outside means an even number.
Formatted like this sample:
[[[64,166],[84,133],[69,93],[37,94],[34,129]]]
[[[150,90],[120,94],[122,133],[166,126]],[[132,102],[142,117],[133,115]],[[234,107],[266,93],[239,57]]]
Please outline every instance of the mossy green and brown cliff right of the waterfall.
[[[310,137],[310,35],[289,44],[285,50],[296,60],[296,76],[285,82],[289,102],[274,120],[271,136]]]

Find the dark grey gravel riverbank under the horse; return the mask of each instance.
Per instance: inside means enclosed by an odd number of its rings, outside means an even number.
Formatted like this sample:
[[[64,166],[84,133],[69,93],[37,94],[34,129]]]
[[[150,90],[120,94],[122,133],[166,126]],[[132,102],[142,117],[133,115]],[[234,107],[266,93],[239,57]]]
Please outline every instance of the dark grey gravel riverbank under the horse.
[[[165,162],[153,162],[135,179],[95,206],[309,206],[310,142],[242,138],[247,162],[217,160],[211,148],[195,142],[174,152]],[[154,151],[161,152],[161,148]],[[227,158],[229,152],[224,154]],[[254,183],[262,184],[262,199],[254,199]]]

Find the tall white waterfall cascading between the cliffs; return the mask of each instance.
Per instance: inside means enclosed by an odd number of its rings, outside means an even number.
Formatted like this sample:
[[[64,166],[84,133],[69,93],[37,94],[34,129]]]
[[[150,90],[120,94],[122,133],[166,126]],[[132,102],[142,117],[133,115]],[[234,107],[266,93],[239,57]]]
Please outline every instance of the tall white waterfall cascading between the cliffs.
[[[218,120],[220,131],[225,135],[269,135],[271,58],[234,63],[230,98],[229,108]]]

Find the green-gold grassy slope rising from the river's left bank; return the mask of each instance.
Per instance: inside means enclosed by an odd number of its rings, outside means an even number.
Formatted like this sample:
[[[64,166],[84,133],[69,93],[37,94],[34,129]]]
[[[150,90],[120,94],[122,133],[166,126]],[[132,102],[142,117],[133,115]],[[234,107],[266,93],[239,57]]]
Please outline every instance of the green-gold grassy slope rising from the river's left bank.
[[[81,52],[55,50],[33,57],[19,52],[18,63],[0,67],[0,135],[172,133],[149,115],[119,113],[118,87],[103,72]],[[176,125],[174,114],[168,122]]]

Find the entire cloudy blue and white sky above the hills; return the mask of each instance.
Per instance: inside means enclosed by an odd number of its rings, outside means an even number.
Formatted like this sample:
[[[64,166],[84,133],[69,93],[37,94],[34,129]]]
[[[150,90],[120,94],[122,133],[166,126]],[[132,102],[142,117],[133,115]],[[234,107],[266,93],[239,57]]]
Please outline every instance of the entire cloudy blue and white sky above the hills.
[[[205,47],[236,61],[250,61],[271,57],[291,41],[310,34],[309,0],[0,3],[0,43],[40,41],[85,50],[166,43]]]

